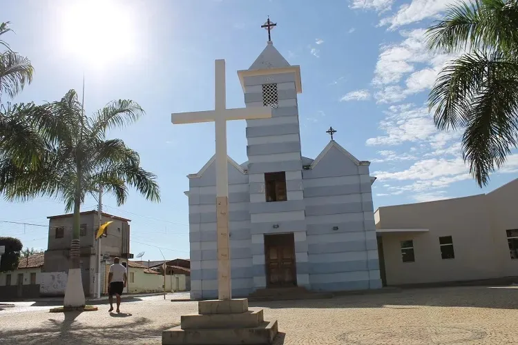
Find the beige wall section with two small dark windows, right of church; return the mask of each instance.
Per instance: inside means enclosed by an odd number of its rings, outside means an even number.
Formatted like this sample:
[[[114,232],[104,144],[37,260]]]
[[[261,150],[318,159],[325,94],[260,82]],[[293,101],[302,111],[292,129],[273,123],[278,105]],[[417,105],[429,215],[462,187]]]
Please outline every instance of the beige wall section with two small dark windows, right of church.
[[[419,204],[381,207],[378,228],[424,228],[428,233],[382,235],[387,285],[489,279],[499,277],[484,195]],[[442,259],[439,237],[452,236],[454,259]],[[503,231],[505,239],[505,231]],[[402,262],[401,241],[414,241],[415,262]],[[507,243],[505,243],[507,245]]]

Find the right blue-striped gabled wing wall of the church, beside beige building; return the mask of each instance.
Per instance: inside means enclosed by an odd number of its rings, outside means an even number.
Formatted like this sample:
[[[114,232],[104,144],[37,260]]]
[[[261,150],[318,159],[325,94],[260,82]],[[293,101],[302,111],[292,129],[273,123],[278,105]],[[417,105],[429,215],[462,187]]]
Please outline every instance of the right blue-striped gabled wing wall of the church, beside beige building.
[[[368,162],[328,147],[303,171],[311,288],[381,288]]]

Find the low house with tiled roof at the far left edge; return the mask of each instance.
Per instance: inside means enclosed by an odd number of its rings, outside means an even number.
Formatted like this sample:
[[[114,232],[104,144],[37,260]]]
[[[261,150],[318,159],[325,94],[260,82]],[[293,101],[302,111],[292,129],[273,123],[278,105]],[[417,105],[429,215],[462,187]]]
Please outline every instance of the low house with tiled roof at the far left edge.
[[[39,297],[39,273],[44,253],[21,257],[16,270],[0,273],[0,297],[3,300]]]

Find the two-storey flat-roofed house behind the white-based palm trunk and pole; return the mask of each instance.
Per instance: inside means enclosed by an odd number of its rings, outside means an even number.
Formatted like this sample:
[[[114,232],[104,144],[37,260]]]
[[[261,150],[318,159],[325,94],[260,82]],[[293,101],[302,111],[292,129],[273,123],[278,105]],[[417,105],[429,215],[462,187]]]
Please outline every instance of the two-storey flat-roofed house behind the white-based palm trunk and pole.
[[[99,228],[97,210],[81,212],[81,230],[79,233],[82,281],[86,296],[92,296],[95,288],[95,265],[97,245],[95,235]],[[45,264],[41,272],[48,276],[51,273],[68,273],[70,244],[72,242],[73,214],[48,217],[48,249],[45,251]],[[113,221],[107,230],[106,237],[101,240],[101,254],[105,260],[120,257],[126,265],[130,254],[130,219],[102,213],[102,223]],[[47,279],[44,277],[42,279]],[[103,279],[103,277],[102,277]],[[60,289],[57,294],[64,293]]]

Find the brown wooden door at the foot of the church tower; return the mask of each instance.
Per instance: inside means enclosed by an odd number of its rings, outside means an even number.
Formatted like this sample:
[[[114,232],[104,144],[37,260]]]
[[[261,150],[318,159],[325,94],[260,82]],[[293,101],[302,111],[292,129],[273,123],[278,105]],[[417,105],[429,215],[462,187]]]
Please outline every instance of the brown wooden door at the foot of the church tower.
[[[293,233],[265,235],[267,286],[296,286],[295,242]]]

